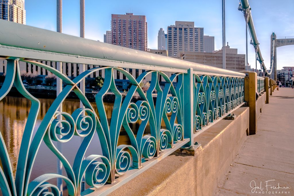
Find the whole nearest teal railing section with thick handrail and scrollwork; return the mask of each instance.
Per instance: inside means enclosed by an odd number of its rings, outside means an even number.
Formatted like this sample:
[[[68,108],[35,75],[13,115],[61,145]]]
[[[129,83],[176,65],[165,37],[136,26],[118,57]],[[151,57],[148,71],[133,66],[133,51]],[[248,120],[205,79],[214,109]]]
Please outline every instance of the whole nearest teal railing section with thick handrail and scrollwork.
[[[3,195],[59,195],[62,190],[54,183],[57,178],[63,180],[68,195],[108,194],[178,148],[193,148],[196,135],[244,102],[244,73],[4,20],[0,20],[0,26],[0,56],[7,60],[0,100],[14,85],[31,101],[15,173],[11,167],[9,149],[0,134],[0,185]],[[36,60],[101,67],[89,69],[71,80]],[[66,84],[38,125],[36,118],[40,101],[23,85],[19,68],[21,61],[55,74]],[[148,71],[134,78],[123,68]],[[99,70],[105,71],[105,81],[95,98],[96,110],[78,85]],[[119,71],[131,83],[125,98],[116,87],[114,71]],[[173,74],[168,77],[164,72]],[[144,92],[140,83],[147,76],[151,76],[150,87]],[[166,81],[164,87],[159,85],[159,76]],[[103,101],[108,91],[115,96],[110,118],[106,115],[109,111]],[[57,109],[70,92],[76,94],[84,108],[75,108],[71,113],[58,112]],[[135,95],[139,96],[136,101],[133,99]],[[133,123],[139,123],[136,130],[131,128]],[[150,127],[149,134],[146,134],[147,126]],[[130,143],[118,144],[122,129],[126,131]],[[33,130],[36,130],[35,134]],[[98,135],[98,138],[94,135]],[[81,143],[76,144],[79,147],[74,161],[70,162],[56,145],[65,145],[74,137],[81,138]],[[41,143],[61,161],[65,170],[63,175],[53,170],[31,179]],[[89,155],[87,149],[91,143],[101,145],[96,154]],[[56,160],[52,160],[52,164],[56,164]],[[83,190],[85,183],[89,188]]]

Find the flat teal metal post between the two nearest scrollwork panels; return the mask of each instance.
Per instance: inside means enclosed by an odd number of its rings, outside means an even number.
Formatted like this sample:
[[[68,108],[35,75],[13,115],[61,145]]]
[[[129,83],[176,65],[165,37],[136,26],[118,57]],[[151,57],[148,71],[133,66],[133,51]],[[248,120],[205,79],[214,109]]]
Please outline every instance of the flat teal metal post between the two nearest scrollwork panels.
[[[190,141],[186,144],[193,148],[194,134],[194,110],[193,110],[193,92],[194,92],[193,68],[184,73],[184,138],[189,138]]]

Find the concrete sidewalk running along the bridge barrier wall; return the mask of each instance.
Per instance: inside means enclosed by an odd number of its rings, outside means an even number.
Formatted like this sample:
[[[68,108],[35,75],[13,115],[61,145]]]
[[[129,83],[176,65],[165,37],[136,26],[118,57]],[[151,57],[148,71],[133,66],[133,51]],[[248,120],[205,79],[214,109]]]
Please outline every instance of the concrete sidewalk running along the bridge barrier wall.
[[[215,195],[294,195],[294,89],[273,92],[257,128],[256,135],[247,136]],[[278,186],[282,188],[273,188]]]

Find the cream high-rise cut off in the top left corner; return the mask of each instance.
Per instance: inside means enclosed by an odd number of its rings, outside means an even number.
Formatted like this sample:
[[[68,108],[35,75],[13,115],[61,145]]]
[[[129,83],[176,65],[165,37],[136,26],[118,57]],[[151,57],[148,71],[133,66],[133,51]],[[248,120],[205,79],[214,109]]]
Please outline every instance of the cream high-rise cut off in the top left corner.
[[[0,0],[0,19],[26,24],[24,0]]]

